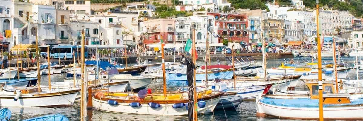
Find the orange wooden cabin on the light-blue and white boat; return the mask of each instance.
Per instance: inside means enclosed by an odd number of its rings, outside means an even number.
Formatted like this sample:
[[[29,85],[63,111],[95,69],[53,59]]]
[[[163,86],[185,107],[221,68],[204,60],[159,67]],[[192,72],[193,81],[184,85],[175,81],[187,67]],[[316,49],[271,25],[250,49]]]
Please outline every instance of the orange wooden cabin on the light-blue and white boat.
[[[319,99],[319,82],[316,80],[304,80],[309,88],[311,99]],[[349,94],[336,93],[335,82],[323,81],[323,104],[348,104],[350,103]]]

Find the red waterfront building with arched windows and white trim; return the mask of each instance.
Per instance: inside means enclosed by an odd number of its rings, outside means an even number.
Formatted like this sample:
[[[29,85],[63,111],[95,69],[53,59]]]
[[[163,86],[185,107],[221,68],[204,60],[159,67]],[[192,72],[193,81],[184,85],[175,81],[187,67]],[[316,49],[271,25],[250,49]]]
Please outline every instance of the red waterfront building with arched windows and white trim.
[[[218,42],[222,43],[223,40],[229,42],[243,42],[249,43],[248,35],[248,20],[247,16],[243,14],[232,13],[213,13],[207,12],[215,18],[215,27],[217,27]]]

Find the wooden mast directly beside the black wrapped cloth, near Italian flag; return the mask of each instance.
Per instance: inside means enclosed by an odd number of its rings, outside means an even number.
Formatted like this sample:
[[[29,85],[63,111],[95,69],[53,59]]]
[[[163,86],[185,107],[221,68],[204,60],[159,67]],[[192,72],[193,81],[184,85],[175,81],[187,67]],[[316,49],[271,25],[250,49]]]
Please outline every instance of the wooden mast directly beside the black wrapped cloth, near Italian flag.
[[[195,58],[195,54],[197,54],[196,52],[195,52],[196,50],[195,50],[195,28],[193,28],[193,44],[192,44],[192,58],[193,58],[193,64],[195,64],[195,61],[196,61],[196,58]],[[195,66],[193,67],[194,69],[193,69],[193,87],[194,87],[194,89],[193,89],[193,103],[194,103],[194,106],[193,106],[193,114],[194,114],[194,116],[193,116],[193,118],[194,118],[194,121],[197,121],[198,120],[198,115],[197,115],[197,88],[196,88],[196,84],[195,84],[195,74],[196,74],[196,68],[195,68]]]

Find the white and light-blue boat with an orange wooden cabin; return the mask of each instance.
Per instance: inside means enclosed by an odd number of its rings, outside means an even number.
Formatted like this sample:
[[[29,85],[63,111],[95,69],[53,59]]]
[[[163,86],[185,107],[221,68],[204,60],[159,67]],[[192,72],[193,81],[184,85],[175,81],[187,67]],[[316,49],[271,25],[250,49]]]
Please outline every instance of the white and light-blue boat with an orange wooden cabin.
[[[319,119],[319,96],[318,81],[306,81],[309,85],[309,98],[276,98],[262,96],[256,100],[257,117],[273,116],[287,119],[318,120]],[[334,82],[323,82],[323,113],[324,120],[360,120],[362,115],[358,113],[363,110],[363,98],[351,99],[350,94],[334,93],[331,84]],[[286,96],[281,96],[286,97]],[[287,96],[289,97],[289,96]]]

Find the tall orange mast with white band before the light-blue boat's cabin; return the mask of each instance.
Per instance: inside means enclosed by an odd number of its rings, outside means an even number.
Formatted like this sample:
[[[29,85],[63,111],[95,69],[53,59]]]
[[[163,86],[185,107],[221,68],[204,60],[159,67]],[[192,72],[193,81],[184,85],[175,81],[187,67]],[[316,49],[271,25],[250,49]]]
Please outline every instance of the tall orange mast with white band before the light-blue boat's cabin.
[[[319,120],[324,121],[323,118],[323,81],[322,81],[322,68],[321,68],[321,40],[319,35],[319,0],[315,0],[317,11],[317,44],[318,44],[318,81],[319,81]]]

